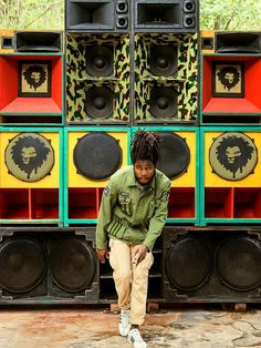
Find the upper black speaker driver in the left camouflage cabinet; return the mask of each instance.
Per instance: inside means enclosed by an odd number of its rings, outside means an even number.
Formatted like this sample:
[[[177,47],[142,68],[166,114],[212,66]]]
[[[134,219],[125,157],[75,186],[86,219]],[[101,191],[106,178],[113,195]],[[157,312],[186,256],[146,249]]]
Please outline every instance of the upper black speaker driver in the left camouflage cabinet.
[[[105,45],[88,47],[86,72],[90,76],[111,76],[114,73],[113,49]]]

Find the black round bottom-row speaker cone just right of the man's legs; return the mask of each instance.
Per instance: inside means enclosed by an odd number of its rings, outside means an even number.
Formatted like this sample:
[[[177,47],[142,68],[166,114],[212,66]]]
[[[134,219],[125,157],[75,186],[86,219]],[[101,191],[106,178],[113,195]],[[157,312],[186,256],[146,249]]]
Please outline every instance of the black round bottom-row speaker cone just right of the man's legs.
[[[166,255],[165,269],[173,286],[196,290],[209,278],[211,258],[207,245],[199,237],[185,237],[173,245]]]

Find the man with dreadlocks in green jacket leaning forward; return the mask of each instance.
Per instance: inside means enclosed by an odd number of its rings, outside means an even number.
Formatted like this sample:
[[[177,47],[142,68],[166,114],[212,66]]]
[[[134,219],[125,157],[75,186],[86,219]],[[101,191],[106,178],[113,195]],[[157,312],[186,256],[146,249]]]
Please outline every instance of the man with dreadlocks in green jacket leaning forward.
[[[156,170],[156,132],[137,131],[132,142],[133,165],[117,171],[105,187],[96,229],[96,253],[108,258],[118,296],[119,334],[134,348],[145,348],[138,330],[146,314],[152,249],[160,235],[168,206],[170,181]]]

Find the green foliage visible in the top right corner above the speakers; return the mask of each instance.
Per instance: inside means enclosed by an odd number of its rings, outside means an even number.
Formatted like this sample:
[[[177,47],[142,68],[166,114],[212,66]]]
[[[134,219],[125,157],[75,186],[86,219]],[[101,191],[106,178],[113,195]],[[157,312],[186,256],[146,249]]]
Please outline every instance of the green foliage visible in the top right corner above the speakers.
[[[200,0],[201,30],[261,30],[261,0]]]

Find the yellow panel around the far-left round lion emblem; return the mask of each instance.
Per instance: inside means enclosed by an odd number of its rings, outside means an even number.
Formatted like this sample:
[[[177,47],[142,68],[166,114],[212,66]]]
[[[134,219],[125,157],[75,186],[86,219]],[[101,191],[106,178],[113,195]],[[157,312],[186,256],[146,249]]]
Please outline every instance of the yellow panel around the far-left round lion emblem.
[[[30,133],[30,132],[27,132]],[[9,142],[20,132],[0,132],[0,187],[19,187],[19,188],[52,188],[59,187],[59,167],[60,167],[60,134],[54,132],[36,132],[44,136],[46,140],[51,140],[51,145],[54,152],[54,165],[50,175],[44,176],[38,182],[23,182],[14,177],[8,172],[8,167],[4,163],[4,152]]]

